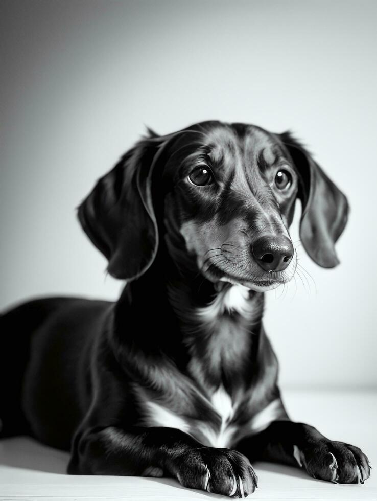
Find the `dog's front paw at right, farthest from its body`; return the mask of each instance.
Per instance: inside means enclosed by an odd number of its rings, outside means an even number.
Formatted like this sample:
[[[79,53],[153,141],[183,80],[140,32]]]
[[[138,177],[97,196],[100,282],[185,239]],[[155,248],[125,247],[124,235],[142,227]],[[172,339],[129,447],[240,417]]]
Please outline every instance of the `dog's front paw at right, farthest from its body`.
[[[369,460],[353,445],[323,441],[302,450],[294,445],[293,456],[314,479],[337,484],[363,484],[369,479]]]

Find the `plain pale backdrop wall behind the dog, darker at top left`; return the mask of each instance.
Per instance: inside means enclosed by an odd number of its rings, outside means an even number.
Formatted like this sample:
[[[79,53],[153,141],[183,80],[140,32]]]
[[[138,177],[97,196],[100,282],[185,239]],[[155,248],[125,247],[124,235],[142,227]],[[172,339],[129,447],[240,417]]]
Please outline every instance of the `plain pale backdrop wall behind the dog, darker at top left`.
[[[308,275],[268,295],[281,386],[376,388],[377,3],[3,0],[1,10],[0,304],[116,299],[121,284],[75,207],[144,124],[290,128],[351,213],[338,268],[298,247]]]

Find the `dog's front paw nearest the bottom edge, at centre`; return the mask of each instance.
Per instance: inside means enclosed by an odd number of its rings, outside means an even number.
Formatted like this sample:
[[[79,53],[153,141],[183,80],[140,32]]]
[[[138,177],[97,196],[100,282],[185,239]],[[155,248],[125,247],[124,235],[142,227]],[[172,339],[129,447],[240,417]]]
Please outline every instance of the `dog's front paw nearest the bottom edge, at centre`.
[[[230,497],[246,497],[257,487],[249,460],[240,452],[201,447],[176,459],[176,476],[184,487]]]

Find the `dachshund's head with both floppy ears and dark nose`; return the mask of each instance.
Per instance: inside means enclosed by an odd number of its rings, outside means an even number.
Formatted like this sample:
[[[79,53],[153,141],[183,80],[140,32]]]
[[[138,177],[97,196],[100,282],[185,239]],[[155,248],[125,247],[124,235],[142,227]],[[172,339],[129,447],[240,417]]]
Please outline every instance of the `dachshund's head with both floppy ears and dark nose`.
[[[268,290],[295,271],[288,228],[297,197],[305,250],[320,266],[336,266],[347,200],[311,155],[289,133],[203,122],[166,136],[150,131],[78,215],[116,278],[140,277],[163,238],[179,267]]]

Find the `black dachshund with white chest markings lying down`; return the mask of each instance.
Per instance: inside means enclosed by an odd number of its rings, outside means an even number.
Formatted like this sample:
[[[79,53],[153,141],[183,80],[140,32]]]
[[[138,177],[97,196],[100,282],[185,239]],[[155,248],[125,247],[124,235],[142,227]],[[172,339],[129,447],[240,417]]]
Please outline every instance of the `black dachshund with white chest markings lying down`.
[[[230,497],[254,491],[256,460],[368,479],[359,448],[291,421],[280,398],[264,292],[294,275],[297,198],[304,249],[336,266],[346,197],[290,132],[148,129],[78,208],[126,281],[119,301],[39,299],[2,317],[2,436],[70,450],[71,474],[171,476]]]

